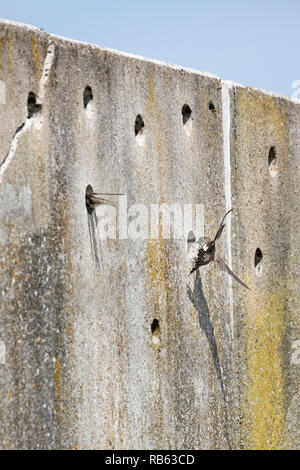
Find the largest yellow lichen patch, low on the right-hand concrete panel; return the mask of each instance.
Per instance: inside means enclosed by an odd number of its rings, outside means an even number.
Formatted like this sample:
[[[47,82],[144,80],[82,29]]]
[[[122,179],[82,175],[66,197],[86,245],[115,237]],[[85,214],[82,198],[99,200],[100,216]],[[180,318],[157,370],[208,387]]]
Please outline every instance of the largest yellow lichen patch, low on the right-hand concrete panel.
[[[278,449],[285,427],[283,360],[286,294],[252,291],[247,318],[246,448]]]

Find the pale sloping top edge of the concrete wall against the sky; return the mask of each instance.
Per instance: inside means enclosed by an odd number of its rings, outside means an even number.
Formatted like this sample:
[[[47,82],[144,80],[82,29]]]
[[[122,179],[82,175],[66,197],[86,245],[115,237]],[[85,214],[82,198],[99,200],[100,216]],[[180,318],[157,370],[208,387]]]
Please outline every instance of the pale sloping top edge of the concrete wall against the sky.
[[[76,39],[66,38],[64,36],[59,36],[59,35],[56,35],[56,34],[50,34],[50,33],[47,33],[43,28],[38,28],[36,26],[27,25],[27,24],[24,24],[24,23],[20,23],[18,21],[12,21],[12,20],[7,20],[7,19],[4,19],[4,18],[0,18],[0,26],[1,26],[1,24],[14,26],[15,28],[34,31],[34,32],[39,33],[41,35],[45,35],[50,40],[52,38],[53,40],[60,40],[60,41],[68,42],[68,43],[71,43],[71,44],[79,44],[79,45],[81,44],[83,46],[90,46],[90,47],[93,47],[95,49],[99,49],[101,51],[108,51],[108,52],[111,52],[112,54],[116,54],[116,55],[119,55],[119,56],[122,56],[122,57],[128,57],[128,58],[140,60],[140,61],[143,61],[143,62],[150,62],[152,64],[156,64],[156,65],[159,65],[159,66],[162,66],[162,67],[168,67],[168,68],[171,68],[173,70],[179,70],[179,71],[183,71],[183,72],[186,72],[186,73],[201,75],[201,76],[204,76],[204,77],[207,77],[207,78],[212,78],[212,79],[215,79],[215,80],[219,80],[221,82],[221,84],[223,86],[226,86],[228,89],[230,89],[230,88],[246,88],[249,91],[251,91],[251,90],[252,91],[257,91],[257,92],[263,93],[265,95],[272,96],[274,98],[282,98],[282,99],[288,100],[292,103],[300,104],[300,99],[293,98],[291,96],[283,95],[283,94],[272,92],[272,91],[266,91],[266,90],[263,90],[263,89],[260,89],[260,88],[255,88],[255,87],[243,85],[243,84],[240,84],[238,82],[231,81],[231,80],[223,80],[223,79],[220,79],[220,77],[218,77],[214,73],[204,72],[204,71],[193,69],[193,68],[190,68],[190,67],[184,67],[184,66],[180,66],[180,65],[176,65],[176,64],[171,64],[171,63],[168,63],[168,62],[164,62],[164,61],[160,61],[160,60],[156,60],[156,59],[151,59],[151,58],[140,56],[140,55],[137,55],[137,54],[132,54],[132,53],[128,53],[128,52],[119,51],[117,49],[111,49],[111,48],[108,48],[108,47],[103,47],[103,46],[91,44],[91,43],[88,43],[88,42],[79,41],[79,40],[76,40]]]

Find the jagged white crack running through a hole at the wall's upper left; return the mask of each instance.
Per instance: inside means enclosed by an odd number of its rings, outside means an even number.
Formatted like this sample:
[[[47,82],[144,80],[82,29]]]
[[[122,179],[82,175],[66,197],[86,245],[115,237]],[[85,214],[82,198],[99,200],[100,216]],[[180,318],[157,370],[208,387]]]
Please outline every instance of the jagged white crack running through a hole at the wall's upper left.
[[[45,93],[46,93],[46,84],[49,78],[50,70],[53,64],[54,60],[54,52],[55,52],[55,45],[53,42],[51,42],[48,46],[47,52],[46,52],[46,58],[44,61],[44,66],[43,66],[43,71],[39,83],[39,93],[38,93],[38,105],[42,107],[42,103],[44,101]],[[37,113],[39,114],[39,113]],[[28,115],[26,120],[16,129],[13,139],[9,148],[9,151],[7,152],[6,156],[4,157],[3,161],[0,164],[0,184],[2,183],[3,175],[5,171],[7,170],[10,162],[14,158],[14,155],[16,153],[16,150],[18,148],[19,140],[24,132],[26,132],[31,126],[32,123],[34,123],[35,120],[38,119],[38,116],[36,115]],[[42,121],[39,123],[38,128],[41,127]]]

